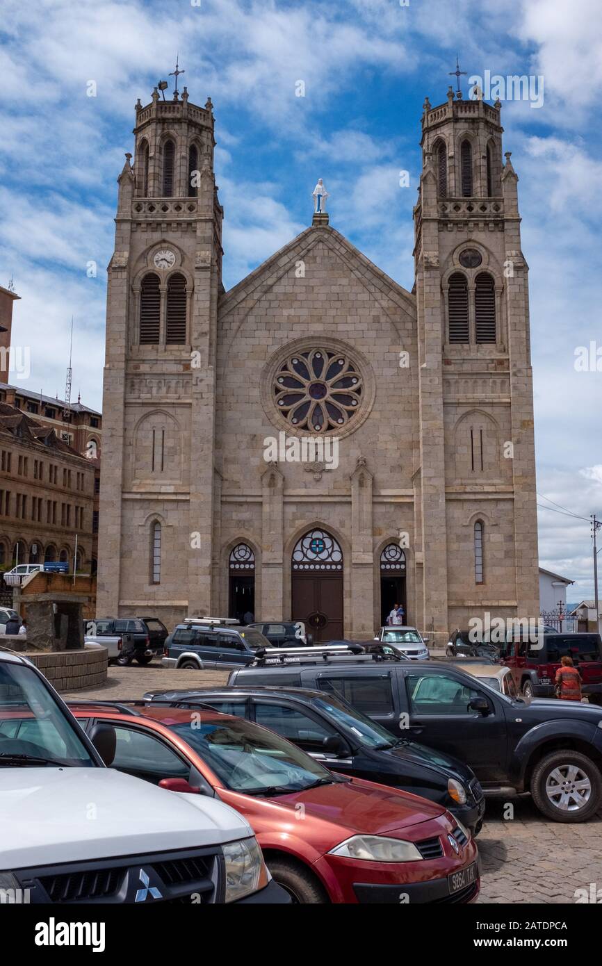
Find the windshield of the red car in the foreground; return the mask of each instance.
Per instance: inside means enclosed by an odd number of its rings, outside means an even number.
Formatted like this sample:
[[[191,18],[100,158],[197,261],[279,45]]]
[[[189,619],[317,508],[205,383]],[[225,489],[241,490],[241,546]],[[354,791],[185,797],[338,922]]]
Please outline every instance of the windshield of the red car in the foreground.
[[[215,772],[225,788],[248,795],[302,791],[330,784],[331,773],[273,731],[242,718],[170,725]]]

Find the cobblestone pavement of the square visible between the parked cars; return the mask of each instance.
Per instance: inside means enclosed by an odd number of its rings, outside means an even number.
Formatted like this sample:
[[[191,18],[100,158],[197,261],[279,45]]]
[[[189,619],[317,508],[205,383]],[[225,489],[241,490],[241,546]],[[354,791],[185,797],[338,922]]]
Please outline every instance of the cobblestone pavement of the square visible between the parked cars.
[[[102,700],[142,697],[145,691],[225,684],[225,671],[109,668],[101,688],[68,692],[64,697]],[[506,803],[514,817],[504,819]],[[602,810],[588,822],[549,822],[530,796],[488,797],[486,821],[477,839],[481,856],[482,903],[575,902],[575,891],[596,883],[602,889]],[[602,893],[601,893],[602,895]]]

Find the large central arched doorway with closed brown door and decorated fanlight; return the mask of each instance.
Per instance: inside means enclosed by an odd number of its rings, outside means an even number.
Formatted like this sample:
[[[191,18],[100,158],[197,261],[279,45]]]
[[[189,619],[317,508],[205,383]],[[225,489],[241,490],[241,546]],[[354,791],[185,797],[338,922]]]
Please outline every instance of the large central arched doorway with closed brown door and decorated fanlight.
[[[293,620],[316,643],[343,637],[343,553],[326,530],[308,530],[295,545],[291,600]]]

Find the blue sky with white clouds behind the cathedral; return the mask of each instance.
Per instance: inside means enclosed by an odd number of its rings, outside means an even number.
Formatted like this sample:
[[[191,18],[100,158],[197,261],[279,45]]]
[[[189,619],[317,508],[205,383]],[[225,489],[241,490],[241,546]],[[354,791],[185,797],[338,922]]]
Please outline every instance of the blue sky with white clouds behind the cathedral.
[[[538,501],[602,517],[602,371],[574,366],[602,346],[599,0],[197,2],[0,0],[0,284],[14,275],[22,298],[27,387],[63,392],[73,315],[73,392],[100,407],[115,180],[135,100],[178,51],[190,99],[215,105],[226,286],[309,223],[322,177],[330,223],[408,288],[421,106],[444,100],[457,51],[469,75],[544,78],[540,108],[502,105],[530,265]],[[542,509],[540,561],[577,582],[569,599],[591,596],[586,520]]]

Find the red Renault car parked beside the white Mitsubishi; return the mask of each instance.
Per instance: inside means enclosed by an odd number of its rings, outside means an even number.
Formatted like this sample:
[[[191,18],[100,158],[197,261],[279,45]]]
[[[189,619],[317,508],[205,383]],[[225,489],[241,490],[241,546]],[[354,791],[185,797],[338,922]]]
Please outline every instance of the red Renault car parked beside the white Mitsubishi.
[[[433,802],[336,775],[268,728],[209,708],[71,708],[86,729],[113,726],[114,754],[99,749],[107,764],[173,791],[216,795],[240,811],[273,878],[295,901],[472,902],[478,895],[473,839]]]

